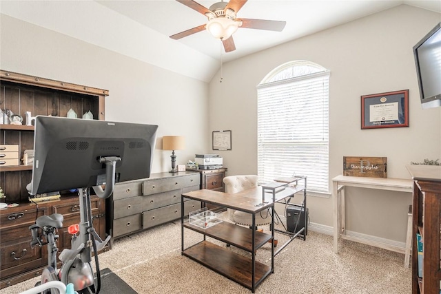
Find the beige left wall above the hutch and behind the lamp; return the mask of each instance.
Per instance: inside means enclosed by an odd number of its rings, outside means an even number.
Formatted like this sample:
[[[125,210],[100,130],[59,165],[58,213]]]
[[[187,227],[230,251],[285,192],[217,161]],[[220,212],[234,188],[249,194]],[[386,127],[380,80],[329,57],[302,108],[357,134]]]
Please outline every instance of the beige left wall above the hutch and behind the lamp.
[[[4,14],[0,21],[2,70],[107,89],[106,120],[158,125],[152,172],[171,169],[162,136],[185,136],[178,164],[209,148],[207,83]]]

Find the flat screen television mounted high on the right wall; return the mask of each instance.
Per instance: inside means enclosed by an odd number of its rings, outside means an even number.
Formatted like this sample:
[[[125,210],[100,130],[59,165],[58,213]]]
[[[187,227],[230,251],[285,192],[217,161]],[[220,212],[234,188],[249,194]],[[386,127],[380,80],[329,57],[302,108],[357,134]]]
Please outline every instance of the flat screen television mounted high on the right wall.
[[[413,46],[423,109],[441,106],[441,23]]]

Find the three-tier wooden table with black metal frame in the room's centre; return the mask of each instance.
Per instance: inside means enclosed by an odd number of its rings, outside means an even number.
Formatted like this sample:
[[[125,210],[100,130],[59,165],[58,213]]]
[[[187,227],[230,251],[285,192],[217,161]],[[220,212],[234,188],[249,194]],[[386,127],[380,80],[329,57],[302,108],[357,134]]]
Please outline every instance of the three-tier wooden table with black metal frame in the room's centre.
[[[256,286],[263,282],[270,273],[274,273],[274,229],[271,230],[271,234],[268,234],[230,222],[220,222],[213,227],[202,229],[188,221],[184,222],[185,198],[250,213],[252,214],[252,227],[255,227],[256,224],[256,213],[270,209],[272,216],[271,228],[274,228],[274,203],[294,196],[298,191],[298,188],[287,187],[276,193],[275,201],[273,200],[273,193],[265,193],[264,202],[262,187],[247,189],[234,194],[208,189],[183,193],[181,198],[181,254],[249,288],[254,293]],[[185,249],[184,228],[203,234],[203,241]],[[248,258],[229,250],[228,247],[208,242],[205,240],[206,236],[250,253],[256,252],[267,242],[271,242],[271,266],[256,261],[255,254],[251,254],[252,257]]]

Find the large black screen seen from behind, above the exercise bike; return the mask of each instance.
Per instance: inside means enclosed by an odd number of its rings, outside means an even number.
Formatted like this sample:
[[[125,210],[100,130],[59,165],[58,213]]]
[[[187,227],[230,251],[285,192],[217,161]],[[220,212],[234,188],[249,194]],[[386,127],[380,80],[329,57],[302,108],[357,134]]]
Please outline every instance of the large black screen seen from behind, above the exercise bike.
[[[105,182],[100,158],[116,156],[115,182],[149,178],[157,125],[37,116],[30,193],[90,188]]]

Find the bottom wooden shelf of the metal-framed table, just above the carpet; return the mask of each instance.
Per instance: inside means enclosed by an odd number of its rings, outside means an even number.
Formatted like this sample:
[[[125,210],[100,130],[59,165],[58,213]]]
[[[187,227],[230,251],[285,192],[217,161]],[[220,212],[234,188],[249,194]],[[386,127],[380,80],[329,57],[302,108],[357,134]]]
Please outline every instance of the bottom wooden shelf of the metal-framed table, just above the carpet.
[[[216,225],[217,226],[217,225]],[[214,226],[214,227],[216,227]],[[183,251],[183,255],[203,266],[228,277],[249,289],[253,288],[252,259],[207,241],[200,242]],[[271,273],[271,266],[255,262],[254,286]]]

